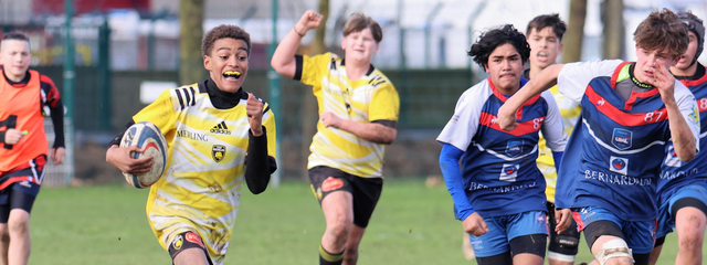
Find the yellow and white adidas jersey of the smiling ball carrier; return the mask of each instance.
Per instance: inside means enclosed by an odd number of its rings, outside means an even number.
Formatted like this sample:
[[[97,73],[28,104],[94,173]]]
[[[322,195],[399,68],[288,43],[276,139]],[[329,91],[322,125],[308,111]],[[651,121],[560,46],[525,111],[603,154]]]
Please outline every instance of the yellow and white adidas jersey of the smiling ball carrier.
[[[147,216],[167,250],[178,233],[197,232],[214,264],[223,262],[244,181],[250,125],[247,93],[230,109],[215,108],[204,82],[165,91],[133,119],[165,134],[166,172],[150,188]],[[275,119],[264,104],[268,156],[275,157]]]

